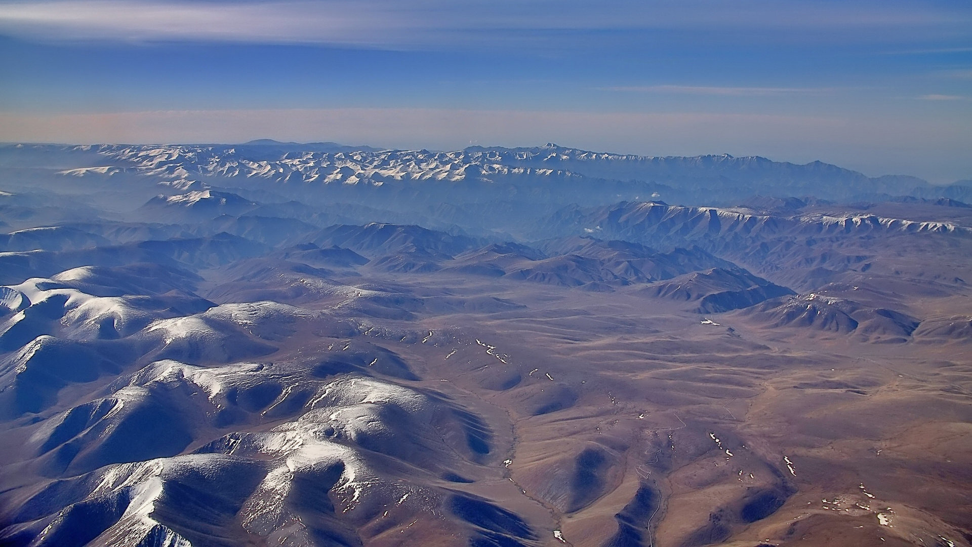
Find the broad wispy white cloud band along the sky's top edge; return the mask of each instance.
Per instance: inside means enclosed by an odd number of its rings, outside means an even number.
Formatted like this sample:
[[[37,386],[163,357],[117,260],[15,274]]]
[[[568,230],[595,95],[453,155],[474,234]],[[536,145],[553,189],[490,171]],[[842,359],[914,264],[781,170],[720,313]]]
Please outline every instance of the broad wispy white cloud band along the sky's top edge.
[[[907,2],[808,0],[166,0],[0,1],[0,33],[43,40],[194,40],[447,47],[503,42],[524,31],[762,28],[848,36],[896,28],[961,29],[967,11],[916,9]],[[886,34],[886,33],[885,33]],[[536,37],[535,37],[536,38]]]

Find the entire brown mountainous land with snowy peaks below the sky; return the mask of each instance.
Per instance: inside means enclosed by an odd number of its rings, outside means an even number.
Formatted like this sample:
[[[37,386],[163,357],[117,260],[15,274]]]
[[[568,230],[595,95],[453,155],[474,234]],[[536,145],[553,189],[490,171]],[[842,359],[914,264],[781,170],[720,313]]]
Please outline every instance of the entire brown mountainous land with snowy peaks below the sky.
[[[553,145],[0,166],[0,545],[972,544],[972,187]]]

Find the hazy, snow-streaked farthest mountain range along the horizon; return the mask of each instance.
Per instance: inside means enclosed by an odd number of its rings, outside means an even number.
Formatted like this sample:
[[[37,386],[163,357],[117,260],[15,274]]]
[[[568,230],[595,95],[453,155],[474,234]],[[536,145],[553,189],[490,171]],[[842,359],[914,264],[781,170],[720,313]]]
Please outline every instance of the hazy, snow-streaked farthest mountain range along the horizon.
[[[819,161],[792,164],[728,154],[651,157],[591,152],[553,143],[526,148],[473,146],[451,152],[271,140],[231,145],[16,145],[0,147],[0,165],[37,164],[37,157],[44,155],[77,158],[75,168],[62,171],[75,176],[130,173],[170,181],[221,181],[220,186],[228,186],[226,180],[230,179],[234,185],[256,187],[264,182],[276,189],[298,185],[304,192],[334,186],[388,185],[390,188],[382,192],[390,194],[404,190],[408,183],[450,187],[462,182],[469,188],[450,190],[481,190],[476,187],[487,184],[493,185],[494,193],[520,200],[533,193],[538,201],[550,201],[554,190],[570,191],[565,202],[572,201],[573,194],[577,195],[573,201],[581,202],[599,193],[612,198],[604,202],[661,198],[719,204],[741,195],[813,196],[845,202],[906,196],[972,201],[972,186],[961,181],[934,186],[908,175],[868,177]],[[17,160],[18,156],[24,160]],[[77,165],[82,158],[87,166]],[[457,196],[462,198],[455,193],[451,197]]]

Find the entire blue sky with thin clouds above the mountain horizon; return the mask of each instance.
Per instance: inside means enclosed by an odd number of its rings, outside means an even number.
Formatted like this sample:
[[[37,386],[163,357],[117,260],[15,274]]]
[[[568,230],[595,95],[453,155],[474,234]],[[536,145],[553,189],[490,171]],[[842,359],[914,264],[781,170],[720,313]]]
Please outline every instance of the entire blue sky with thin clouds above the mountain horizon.
[[[972,178],[972,3],[0,0],[0,140],[258,137]]]

